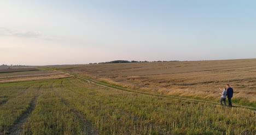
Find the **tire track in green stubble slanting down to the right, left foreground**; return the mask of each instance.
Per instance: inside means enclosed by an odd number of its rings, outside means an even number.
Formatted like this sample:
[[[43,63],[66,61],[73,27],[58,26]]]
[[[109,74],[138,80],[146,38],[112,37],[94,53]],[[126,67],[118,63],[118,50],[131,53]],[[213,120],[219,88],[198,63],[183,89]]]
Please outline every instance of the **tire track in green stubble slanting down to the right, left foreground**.
[[[61,86],[63,86],[62,84],[63,81],[61,81]],[[54,83],[53,83],[54,84]],[[100,134],[98,133],[98,131],[96,131],[94,129],[94,127],[91,125],[91,122],[89,120],[87,120],[84,115],[82,113],[80,113],[79,110],[71,107],[71,105],[66,101],[66,99],[64,99],[62,96],[60,96],[59,92],[57,92],[55,89],[54,89],[54,86],[53,84],[51,84],[51,89],[55,92],[56,96],[61,98],[61,102],[64,103],[67,107],[71,108],[71,111],[78,117],[79,120],[82,120],[82,122],[84,123],[84,131],[86,134],[92,134],[92,135],[97,135],[97,134]]]

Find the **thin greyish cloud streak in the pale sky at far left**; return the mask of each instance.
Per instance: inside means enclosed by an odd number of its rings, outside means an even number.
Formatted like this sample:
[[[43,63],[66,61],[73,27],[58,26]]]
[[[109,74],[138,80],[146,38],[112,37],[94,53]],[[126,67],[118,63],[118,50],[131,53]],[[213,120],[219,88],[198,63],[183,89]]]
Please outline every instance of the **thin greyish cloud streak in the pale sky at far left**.
[[[15,36],[15,37],[22,37],[22,38],[39,38],[45,40],[53,40],[53,38],[49,38],[45,36],[40,31],[17,31],[11,30],[9,28],[0,27],[0,36]]]

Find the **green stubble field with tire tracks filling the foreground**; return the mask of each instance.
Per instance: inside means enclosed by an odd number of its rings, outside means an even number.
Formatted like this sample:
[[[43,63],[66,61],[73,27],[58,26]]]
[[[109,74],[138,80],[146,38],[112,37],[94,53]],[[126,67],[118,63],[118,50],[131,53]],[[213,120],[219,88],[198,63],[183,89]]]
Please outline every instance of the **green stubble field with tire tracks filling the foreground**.
[[[255,134],[249,109],[109,89],[75,78],[0,84],[0,134]],[[2,98],[2,97],[1,97]]]

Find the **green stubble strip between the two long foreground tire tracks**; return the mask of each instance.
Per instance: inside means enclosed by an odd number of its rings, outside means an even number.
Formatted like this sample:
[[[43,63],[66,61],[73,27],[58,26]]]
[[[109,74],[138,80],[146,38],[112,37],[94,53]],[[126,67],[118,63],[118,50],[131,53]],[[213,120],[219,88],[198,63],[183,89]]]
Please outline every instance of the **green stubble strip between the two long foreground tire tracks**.
[[[44,85],[36,109],[28,118],[22,134],[82,134],[83,123],[51,88]]]

